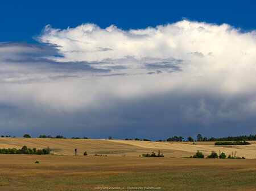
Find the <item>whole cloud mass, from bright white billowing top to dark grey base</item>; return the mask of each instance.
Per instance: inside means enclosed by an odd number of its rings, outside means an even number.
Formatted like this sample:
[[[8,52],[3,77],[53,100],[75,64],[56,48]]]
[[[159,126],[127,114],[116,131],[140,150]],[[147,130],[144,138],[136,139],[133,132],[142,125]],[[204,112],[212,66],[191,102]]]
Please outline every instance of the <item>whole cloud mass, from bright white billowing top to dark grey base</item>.
[[[255,134],[256,31],[180,22],[124,31],[46,26],[0,43],[7,134],[114,138]]]

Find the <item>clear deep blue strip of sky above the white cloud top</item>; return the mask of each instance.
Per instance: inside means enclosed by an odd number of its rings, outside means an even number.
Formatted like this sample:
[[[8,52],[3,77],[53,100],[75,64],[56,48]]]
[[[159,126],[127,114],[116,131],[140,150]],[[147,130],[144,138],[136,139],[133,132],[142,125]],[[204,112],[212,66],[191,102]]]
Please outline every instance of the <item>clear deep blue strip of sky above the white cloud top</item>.
[[[105,28],[155,27],[182,18],[256,28],[255,1],[4,1],[0,11],[0,41],[29,41],[42,28],[96,23]]]

